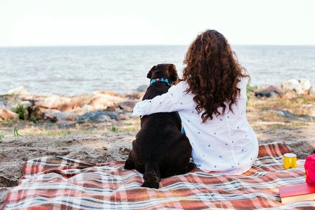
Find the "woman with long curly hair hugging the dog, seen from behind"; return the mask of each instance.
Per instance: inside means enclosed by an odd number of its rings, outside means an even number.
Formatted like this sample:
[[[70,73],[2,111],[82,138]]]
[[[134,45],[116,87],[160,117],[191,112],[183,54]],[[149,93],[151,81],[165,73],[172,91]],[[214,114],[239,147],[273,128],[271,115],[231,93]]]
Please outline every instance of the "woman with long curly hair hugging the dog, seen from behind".
[[[258,156],[258,141],[246,119],[246,69],[215,30],[197,36],[184,64],[182,80],[167,93],[138,102],[133,114],[177,111],[196,167],[245,173]]]

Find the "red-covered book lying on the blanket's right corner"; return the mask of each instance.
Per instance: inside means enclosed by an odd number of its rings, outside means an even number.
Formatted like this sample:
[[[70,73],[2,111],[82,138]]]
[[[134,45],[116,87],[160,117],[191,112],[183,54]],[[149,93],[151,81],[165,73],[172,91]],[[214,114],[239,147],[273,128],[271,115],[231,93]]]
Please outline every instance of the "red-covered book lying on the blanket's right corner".
[[[279,187],[282,203],[315,200],[315,182]]]

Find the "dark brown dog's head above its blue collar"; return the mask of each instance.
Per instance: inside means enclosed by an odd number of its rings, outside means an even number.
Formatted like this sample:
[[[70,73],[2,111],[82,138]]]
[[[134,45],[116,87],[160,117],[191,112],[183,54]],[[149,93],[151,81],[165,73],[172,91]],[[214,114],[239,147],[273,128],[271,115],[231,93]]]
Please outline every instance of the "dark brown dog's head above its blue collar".
[[[178,79],[175,65],[166,63],[153,66],[146,77],[149,79],[163,77],[168,79],[171,84]]]

